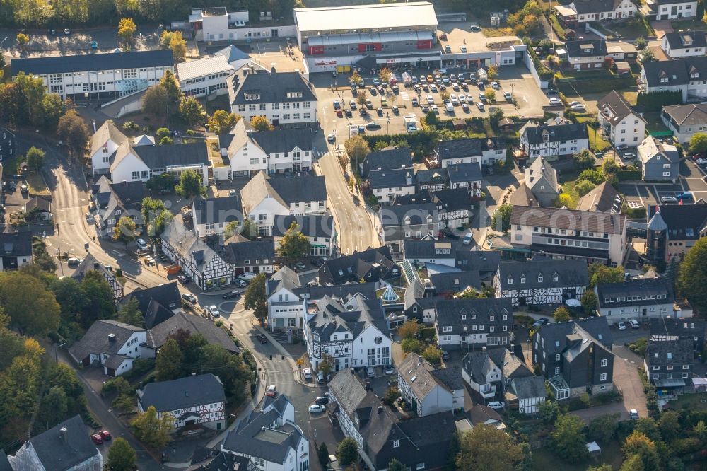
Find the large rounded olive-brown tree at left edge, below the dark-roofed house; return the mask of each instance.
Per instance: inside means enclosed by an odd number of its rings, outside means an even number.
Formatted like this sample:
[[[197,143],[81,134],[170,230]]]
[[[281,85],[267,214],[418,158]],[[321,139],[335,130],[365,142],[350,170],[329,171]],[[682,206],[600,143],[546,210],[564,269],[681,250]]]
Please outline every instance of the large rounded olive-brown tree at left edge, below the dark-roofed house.
[[[54,293],[25,272],[0,273],[0,306],[23,334],[43,336],[59,327],[61,308]]]

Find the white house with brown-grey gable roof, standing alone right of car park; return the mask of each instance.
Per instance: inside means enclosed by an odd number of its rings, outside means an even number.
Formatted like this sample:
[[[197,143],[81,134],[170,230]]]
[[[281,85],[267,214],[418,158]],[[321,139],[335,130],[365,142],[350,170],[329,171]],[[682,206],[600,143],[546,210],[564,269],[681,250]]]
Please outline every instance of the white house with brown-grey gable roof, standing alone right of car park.
[[[645,136],[645,120],[626,98],[612,90],[597,103],[599,126],[614,146],[635,147]]]

